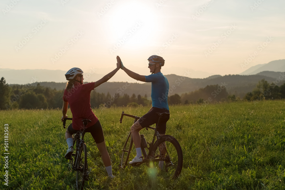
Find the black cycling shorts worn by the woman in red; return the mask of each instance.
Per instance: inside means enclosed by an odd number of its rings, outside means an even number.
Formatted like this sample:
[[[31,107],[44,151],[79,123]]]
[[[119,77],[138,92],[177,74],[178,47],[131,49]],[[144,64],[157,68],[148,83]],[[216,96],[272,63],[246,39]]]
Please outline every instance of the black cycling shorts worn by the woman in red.
[[[72,128],[72,123],[68,126],[67,130],[71,134],[75,134],[78,131],[80,131],[80,130],[73,129]],[[101,126],[101,123],[100,123],[99,120],[94,125],[86,128],[85,132],[90,132],[91,133],[91,135],[92,135],[93,139],[95,140],[96,144],[105,141],[103,129],[102,129],[102,126]]]

